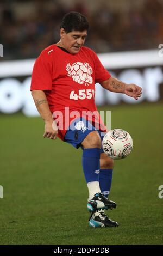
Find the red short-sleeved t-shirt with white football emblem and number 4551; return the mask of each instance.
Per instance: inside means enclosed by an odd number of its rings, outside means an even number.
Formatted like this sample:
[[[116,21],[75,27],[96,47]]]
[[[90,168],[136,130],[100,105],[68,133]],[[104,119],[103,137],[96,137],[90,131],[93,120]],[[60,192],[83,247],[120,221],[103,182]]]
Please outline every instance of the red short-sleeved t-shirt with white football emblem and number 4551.
[[[59,138],[64,140],[71,121],[82,116],[106,131],[95,105],[95,83],[110,76],[90,48],[83,46],[72,55],[51,45],[41,52],[34,64],[31,90],[45,92]]]

